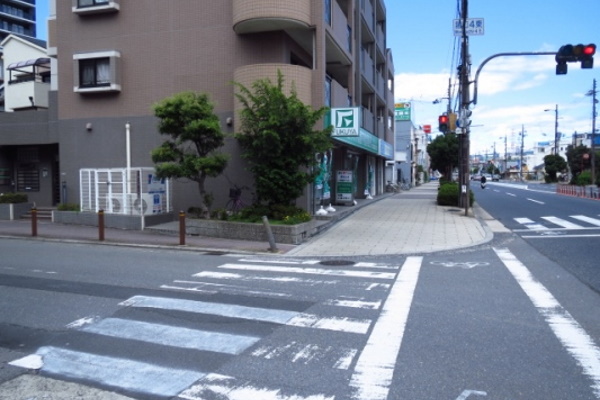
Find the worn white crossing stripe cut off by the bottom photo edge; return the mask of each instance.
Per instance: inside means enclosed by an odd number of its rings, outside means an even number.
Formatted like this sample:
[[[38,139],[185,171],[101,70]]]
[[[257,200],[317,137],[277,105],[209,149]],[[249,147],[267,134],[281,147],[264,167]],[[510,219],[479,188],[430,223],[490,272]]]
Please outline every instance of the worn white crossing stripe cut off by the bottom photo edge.
[[[201,382],[180,393],[178,398],[205,400],[218,398],[227,400],[334,400],[335,396],[317,394],[300,396],[285,395],[281,389],[256,387],[248,381],[238,381],[231,376],[209,374]]]

